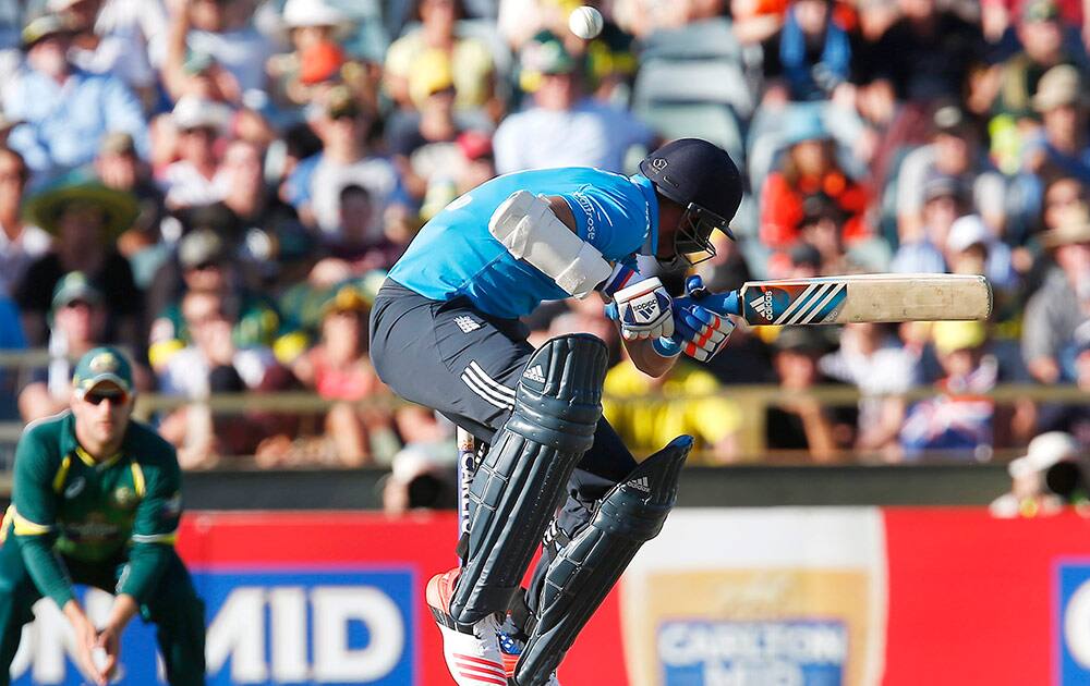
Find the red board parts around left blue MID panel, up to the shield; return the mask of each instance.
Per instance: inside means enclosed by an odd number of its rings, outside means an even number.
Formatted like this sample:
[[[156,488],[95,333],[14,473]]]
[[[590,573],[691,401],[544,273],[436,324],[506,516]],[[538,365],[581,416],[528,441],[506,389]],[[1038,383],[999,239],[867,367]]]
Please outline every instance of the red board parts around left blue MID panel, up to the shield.
[[[413,568],[421,579],[415,636],[420,684],[446,686],[453,682],[443,662],[439,632],[424,604],[423,584],[457,562],[456,531],[453,513],[395,518],[358,512],[191,512],[182,520],[178,550],[194,569],[329,569],[358,563]],[[614,593],[565,660],[565,686],[627,683],[617,617]]]

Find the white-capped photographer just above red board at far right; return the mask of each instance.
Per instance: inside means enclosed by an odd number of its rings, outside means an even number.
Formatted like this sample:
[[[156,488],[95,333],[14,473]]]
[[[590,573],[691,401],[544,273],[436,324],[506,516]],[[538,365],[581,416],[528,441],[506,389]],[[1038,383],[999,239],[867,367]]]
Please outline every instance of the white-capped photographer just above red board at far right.
[[[1007,465],[1010,491],[992,501],[994,517],[1036,517],[1057,514],[1064,501],[1049,490],[1045,475],[1061,462],[1086,463],[1082,451],[1069,433],[1049,431],[1029,442],[1026,454]]]

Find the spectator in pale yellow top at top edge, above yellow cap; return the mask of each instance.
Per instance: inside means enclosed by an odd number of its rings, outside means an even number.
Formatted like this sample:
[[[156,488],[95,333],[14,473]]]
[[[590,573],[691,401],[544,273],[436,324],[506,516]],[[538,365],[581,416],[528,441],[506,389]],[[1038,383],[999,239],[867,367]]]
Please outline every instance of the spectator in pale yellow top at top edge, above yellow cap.
[[[420,25],[395,40],[386,52],[386,89],[393,101],[405,109],[420,107],[410,84],[414,77],[424,76],[421,70],[429,69],[428,64],[439,59],[448,63],[453,75],[455,105],[460,109],[487,109],[498,118],[501,110],[494,100],[492,51],[482,40],[459,35],[458,20],[465,16],[461,0],[419,0],[415,12]]]

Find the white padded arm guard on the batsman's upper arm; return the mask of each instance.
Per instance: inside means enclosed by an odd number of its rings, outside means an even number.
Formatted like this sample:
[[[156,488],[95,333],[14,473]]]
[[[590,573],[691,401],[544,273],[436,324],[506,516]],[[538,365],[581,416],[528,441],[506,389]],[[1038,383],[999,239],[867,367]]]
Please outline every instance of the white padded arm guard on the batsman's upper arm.
[[[557,219],[547,200],[529,191],[517,191],[504,200],[493,212],[488,231],[516,259],[530,262],[579,298],[613,271],[597,248]]]

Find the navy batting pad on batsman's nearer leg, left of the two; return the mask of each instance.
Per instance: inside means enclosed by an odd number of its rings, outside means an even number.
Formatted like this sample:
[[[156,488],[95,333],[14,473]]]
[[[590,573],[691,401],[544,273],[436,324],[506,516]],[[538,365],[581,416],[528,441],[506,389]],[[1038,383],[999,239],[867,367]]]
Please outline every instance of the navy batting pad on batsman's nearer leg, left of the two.
[[[511,417],[470,486],[469,552],[450,603],[470,625],[505,612],[565,498],[602,417],[605,344],[588,334],[547,341],[530,357]]]

